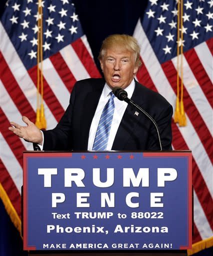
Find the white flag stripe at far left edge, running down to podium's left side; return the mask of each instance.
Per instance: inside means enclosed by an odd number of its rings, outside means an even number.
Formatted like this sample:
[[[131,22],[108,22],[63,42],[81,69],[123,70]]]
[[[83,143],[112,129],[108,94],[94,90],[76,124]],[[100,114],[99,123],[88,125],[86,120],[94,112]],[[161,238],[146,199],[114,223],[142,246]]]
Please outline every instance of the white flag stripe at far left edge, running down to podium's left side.
[[[22,168],[0,132],[1,160],[11,176],[18,192],[22,186]],[[3,150],[2,150],[3,149]],[[9,159],[9,161],[8,161]]]

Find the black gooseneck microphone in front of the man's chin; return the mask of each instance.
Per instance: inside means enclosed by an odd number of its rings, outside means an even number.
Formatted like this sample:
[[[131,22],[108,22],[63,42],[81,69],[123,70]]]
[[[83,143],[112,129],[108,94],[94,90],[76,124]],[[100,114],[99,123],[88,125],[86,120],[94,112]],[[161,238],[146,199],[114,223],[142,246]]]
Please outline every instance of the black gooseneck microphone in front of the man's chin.
[[[162,151],[162,144],[161,144],[160,135],[159,135],[159,128],[158,128],[157,123],[155,122],[155,120],[143,108],[141,108],[133,100],[128,98],[127,97],[127,92],[125,90],[123,90],[122,88],[114,87],[112,89],[112,92],[115,95],[115,97],[117,97],[119,100],[124,100],[125,102],[127,102],[131,106],[135,107],[140,112],[142,112],[145,116],[147,116],[149,118],[149,120],[151,120],[151,122],[154,124],[154,127],[156,128],[157,137],[158,137],[159,146],[160,146],[160,151]]]

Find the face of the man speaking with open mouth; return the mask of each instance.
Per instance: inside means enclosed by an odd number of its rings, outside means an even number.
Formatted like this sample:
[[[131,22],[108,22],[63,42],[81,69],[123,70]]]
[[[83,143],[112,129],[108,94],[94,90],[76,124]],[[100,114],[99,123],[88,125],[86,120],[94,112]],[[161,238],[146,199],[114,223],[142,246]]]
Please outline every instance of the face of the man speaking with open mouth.
[[[135,66],[135,53],[119,47],[106,49],[100,60],[100,66],[106,83],[111,88],[122,89],[130,84],[138,69]]]

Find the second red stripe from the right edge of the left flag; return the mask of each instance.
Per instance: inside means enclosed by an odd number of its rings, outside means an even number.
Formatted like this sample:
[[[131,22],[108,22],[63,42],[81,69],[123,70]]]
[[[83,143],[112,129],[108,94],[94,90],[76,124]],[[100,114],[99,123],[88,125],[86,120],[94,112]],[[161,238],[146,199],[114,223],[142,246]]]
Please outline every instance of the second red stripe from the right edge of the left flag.
[[[61,80],[65,84],[66,88],[69,92],[71,92],[73,85],[76,82],[76,79],[74,78],[71,70],[68,68],[60,52],[58,51],[57,53],[53,54],[49,57],[49,59],[52,62]]]

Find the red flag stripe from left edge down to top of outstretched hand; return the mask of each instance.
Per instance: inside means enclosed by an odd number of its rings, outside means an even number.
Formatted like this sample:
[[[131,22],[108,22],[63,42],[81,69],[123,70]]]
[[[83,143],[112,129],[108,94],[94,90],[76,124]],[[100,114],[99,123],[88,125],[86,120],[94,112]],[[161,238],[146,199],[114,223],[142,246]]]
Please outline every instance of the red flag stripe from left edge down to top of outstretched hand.
[[[12,101],[18,108],[21,115],[26,115],[32,122],[35,121],[35,112],[31,107],[28,99],[20,89],[12,72],[10,71],[2,53],[0,52],[0,63],[3,75],[1,76],[2,83],[10,95]]]

